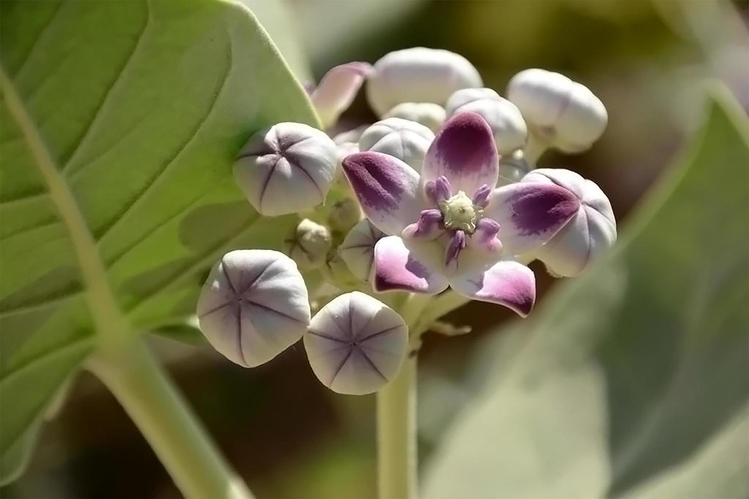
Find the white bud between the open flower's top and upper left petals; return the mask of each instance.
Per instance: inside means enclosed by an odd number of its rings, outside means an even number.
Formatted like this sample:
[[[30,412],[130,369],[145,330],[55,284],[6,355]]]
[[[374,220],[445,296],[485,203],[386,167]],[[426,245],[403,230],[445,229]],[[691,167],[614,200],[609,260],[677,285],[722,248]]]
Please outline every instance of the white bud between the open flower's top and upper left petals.
[[[400,159],[416,171],[421,171],[424,156],[434,132],[415,121],[389,117],[377,121],[359,139],[359,150],[371,150]]]

